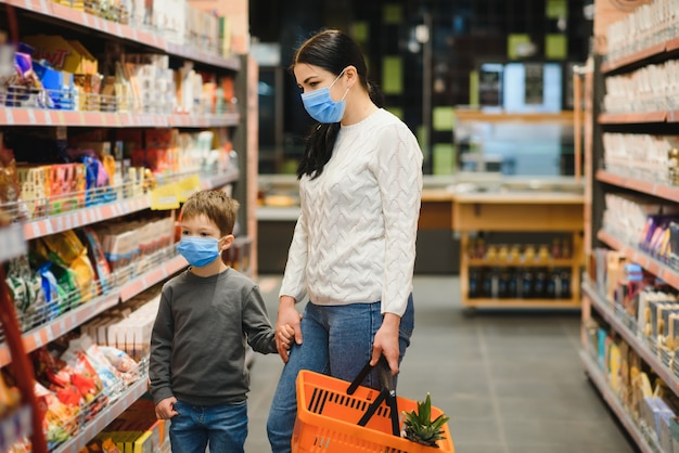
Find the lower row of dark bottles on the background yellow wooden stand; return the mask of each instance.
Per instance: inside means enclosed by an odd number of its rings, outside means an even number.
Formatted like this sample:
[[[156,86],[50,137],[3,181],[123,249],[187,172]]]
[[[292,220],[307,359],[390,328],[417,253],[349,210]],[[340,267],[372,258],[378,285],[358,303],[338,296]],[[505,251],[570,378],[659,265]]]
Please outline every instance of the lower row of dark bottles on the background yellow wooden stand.
[[[571,299],[571,269],[470,268],[469,297]]]

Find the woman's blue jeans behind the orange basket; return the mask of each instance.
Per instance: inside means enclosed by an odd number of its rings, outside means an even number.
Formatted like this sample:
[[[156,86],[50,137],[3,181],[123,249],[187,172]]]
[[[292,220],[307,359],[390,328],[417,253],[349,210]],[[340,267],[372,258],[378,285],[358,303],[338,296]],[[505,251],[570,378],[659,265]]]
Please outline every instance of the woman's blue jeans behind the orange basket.
[[[382,325],[380,302],[349,306],[317,306],[307,303],[302,318],[302,345],[293,346],[290,361],[283,367],[273,394],[267,433],[273,453],[291,451],[291,440],[297,414],[295,380],[300,370],[324,373],[351,381],[372,357],[375,333]],[[399,351],[403,358],[410,345],[414,326],[412,295],[400,321]],[[379,388],[380,380],[373,370],[364,386]]]

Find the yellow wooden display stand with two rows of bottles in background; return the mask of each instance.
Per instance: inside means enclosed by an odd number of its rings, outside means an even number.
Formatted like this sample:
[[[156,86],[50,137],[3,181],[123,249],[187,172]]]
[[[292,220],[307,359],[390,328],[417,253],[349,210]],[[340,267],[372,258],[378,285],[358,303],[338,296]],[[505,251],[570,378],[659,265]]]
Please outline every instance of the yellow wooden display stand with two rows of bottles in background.
[[[582,211],[582,195],[577,193],[454,194],[452,229],[460,235],[462,306],[578,308]],[[513,233],[545,234],[549,240],[529,245],[484,244],[479,250],[475,238]]]

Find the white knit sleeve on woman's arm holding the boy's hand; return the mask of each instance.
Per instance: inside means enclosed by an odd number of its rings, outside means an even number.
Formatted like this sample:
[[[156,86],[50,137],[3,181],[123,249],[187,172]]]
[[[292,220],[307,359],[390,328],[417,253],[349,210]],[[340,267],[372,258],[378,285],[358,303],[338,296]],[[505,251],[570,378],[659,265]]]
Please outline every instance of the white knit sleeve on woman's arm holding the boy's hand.
[[[295,302],[300,302],[307,295],[307,226],[304,209],[297,218],[295,232],[287,251],[287,262],[285,263],[285,272],[283,282],[281,283],[280,296],[291,296]]]

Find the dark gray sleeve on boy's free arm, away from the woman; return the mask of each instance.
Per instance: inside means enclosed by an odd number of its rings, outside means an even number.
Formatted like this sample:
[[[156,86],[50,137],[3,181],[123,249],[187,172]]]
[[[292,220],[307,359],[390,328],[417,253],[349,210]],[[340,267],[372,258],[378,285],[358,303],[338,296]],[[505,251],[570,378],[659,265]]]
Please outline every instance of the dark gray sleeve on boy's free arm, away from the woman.
[[[161,295],[158,314],[151,333],[149,378],[151,380],[151,394],[156,404],[166,398],[174,397],[170,360],[175,327],[168,293],[170,293],[170,289],[164,287]]]

